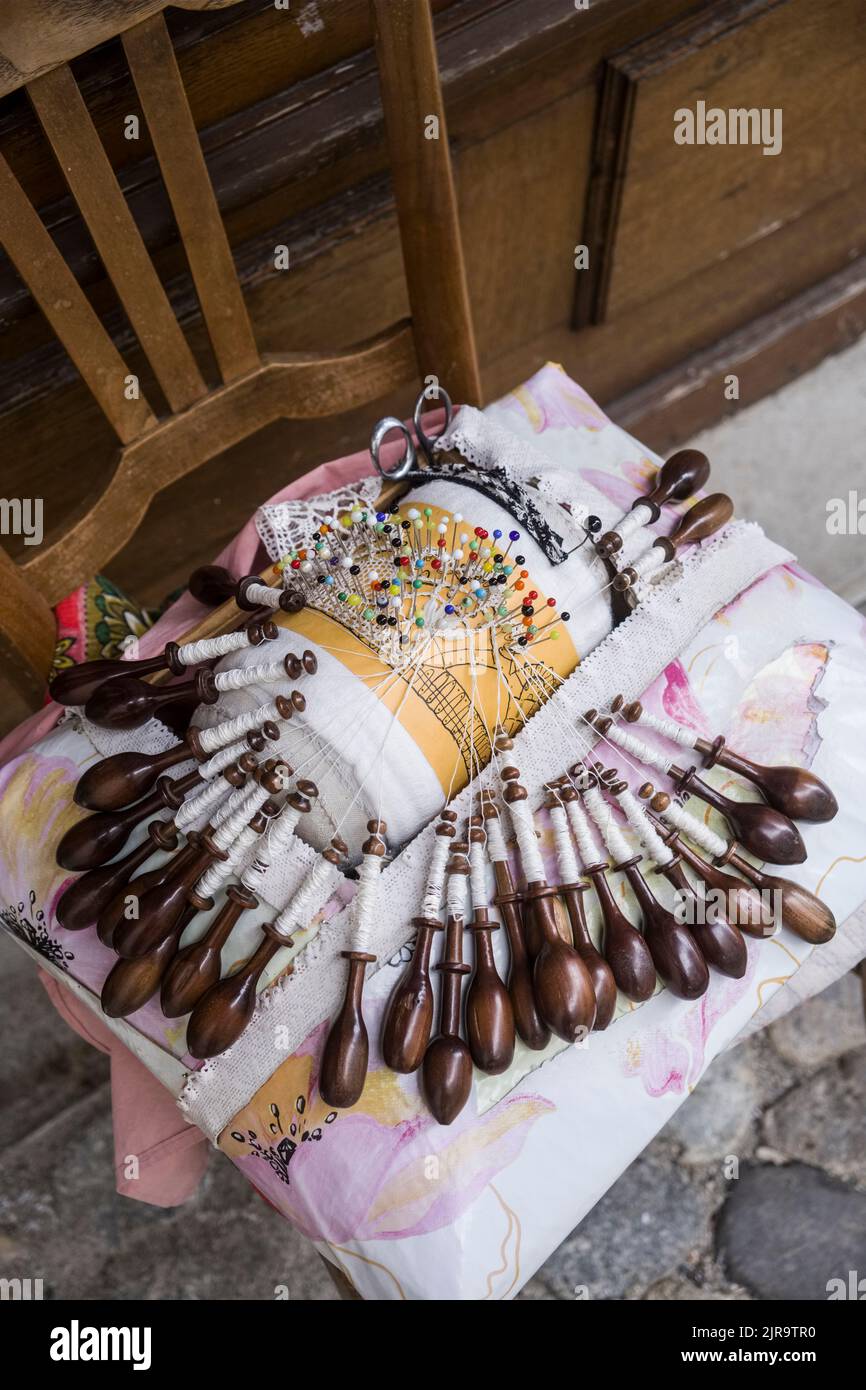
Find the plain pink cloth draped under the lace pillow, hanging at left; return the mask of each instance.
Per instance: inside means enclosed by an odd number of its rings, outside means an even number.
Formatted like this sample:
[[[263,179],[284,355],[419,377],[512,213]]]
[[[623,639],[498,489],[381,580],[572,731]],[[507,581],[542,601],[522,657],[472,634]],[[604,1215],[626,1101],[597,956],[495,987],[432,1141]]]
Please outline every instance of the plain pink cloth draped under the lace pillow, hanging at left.
[[[432,434],[441,424],[441,411],[424,417],[424,428]],[[391,467],[402,452],[402,442],[386,443],[382,461]],[[311,473],[296,478],[288,486],[275,492],[270,502],[284,502],[289,498],[314,498],[332,492],[346,482],[354,482],[370,474],[370,453],[348,455],[324,463]],[[224,564],[238,578],[253,570],[263,570],[267,555],[259,539],[253,518],[238,532],[235,539],[217,556],[215,564]],[[183,594],[154,623],[139,642],[139,655],[149,656],[186,632],[209,610],[197,603],[190,594]],[[38,714],[14,728],[0,741],[0,766],[17,758],[38,739],[44,738],[61,714],[61,706],[50,702]],[[100,1052],[111,1058],[111,1112],[114,1122],[114,1170],[117,1190],[125,1197],[133,1197],[153,1207],[177,1207],[196,1190],[207,1166],[207,1140],[200,1130],[188,1125],[177,1108],[175,1098],[146,1066],[111,1033],[97,1016],[53,976],[39,972],[51,1004],[70,1027],[92,1042]],[[138,1159],[138,1176],[128,1177],[128,1159]]]

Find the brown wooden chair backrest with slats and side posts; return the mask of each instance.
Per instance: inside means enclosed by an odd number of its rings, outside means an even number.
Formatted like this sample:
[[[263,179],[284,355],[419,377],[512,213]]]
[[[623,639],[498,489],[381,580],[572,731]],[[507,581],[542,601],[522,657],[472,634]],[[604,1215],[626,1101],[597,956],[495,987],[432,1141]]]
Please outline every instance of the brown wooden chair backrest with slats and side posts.
[[[181,0],[222,8],[238,0]],[[17,8],[17,7],[15,7]],[[0,549],[0,651],[11,678],[44,685],[51,605],[135,534],[153,498],[277,418],[336,414],[413,377],[480,402],[455,186],[427,0],[370,0],[411,320],[354,350],[261,354],[192,120],[165,0],[100,0],[70,26],[63,0],[0,19],[0,96],[26,86],[96,250],[168,403],[161,417],[106,332],[0,153],[0,245],[120,441],[111,478],[61,537],[17,564]],[[26,11],[25,11],[26,15]],[[10,32],[15,31],[15,32]],[[26,31],[26,33],[24,33]],[[168,303],[70,68],[121,35],[207,327],[221,384],[210,389]],[[24,42],[26,38],[26,42]],[[26,61],[10,54],[26,54]],[[26,71],[24,71],[26,70]],[[427,138],[430,117],[438,139]],[[253,500],[253,499],[250,499]]]

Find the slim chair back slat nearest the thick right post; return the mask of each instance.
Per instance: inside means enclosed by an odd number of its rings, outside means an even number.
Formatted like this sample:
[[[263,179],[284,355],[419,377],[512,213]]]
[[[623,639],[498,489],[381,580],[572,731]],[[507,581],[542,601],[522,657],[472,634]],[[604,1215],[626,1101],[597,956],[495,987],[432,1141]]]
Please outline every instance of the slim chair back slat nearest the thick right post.
[[[202,314],[225,382],[259,367],[256,339],[161,14],[122,36]]]

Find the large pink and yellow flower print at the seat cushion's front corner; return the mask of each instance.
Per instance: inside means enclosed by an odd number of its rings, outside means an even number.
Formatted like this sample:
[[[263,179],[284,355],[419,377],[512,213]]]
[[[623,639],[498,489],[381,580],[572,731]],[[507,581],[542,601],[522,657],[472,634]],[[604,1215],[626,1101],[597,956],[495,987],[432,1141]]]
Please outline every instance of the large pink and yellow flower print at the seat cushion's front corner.
[[[478,1116],[471,1101],[448,1129],[385,1066],[350,1111],[317,1088],[328,1023],[277,1069],[220,1147],[311,1240],[402,1240],[452,1225],[520,1154],[553,1111],[541,1095],[507,1097]]]

